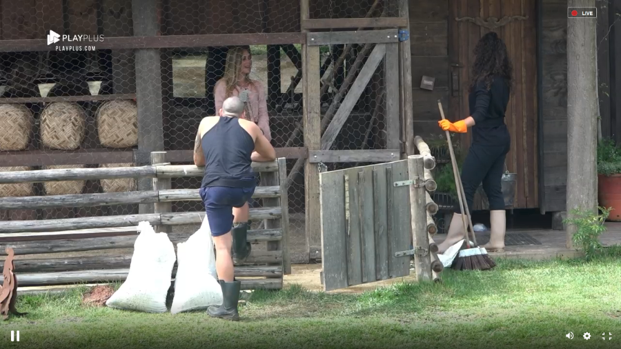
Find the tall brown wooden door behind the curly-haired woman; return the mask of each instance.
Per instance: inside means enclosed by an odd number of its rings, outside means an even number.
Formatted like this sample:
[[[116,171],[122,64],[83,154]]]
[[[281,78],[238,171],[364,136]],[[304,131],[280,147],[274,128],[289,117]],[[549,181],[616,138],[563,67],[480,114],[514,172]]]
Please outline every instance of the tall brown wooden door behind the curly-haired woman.
[[[491,30],[497,32],[513,63],[513,90],[505,120],[511,133],[506,167],[517,173],[513,207],[536,208],[539,200],[535,0],[459,0],[450,1],[450,6],[451,118],[460,120],[469,115],[473,50],[482,35]],[[469,146],[470,137],[467,134],[460,139],[462,148]],[[477,203],[474,206],[481,208]]]

